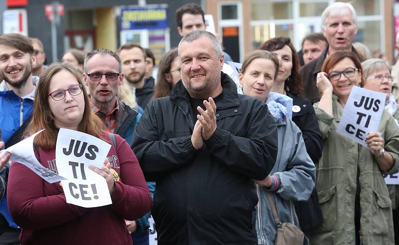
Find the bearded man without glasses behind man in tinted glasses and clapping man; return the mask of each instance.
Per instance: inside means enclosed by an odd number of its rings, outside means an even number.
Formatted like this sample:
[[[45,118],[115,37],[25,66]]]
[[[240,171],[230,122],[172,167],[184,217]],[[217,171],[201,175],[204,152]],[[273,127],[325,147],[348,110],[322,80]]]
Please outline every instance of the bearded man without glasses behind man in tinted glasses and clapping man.
[[[145,109],[154,95],[154,78],[145,78],[146,51],[138,44],[126,43],[118,49],[122,60],[124,83],[136,96],[137,104]]]

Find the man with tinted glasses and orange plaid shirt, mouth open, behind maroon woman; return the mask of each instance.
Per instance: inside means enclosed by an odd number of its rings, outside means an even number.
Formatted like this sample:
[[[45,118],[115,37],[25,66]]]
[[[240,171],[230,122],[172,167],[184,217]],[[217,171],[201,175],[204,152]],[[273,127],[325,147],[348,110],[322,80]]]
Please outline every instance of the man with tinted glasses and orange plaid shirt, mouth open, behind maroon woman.
[[[83,81],[89,87],[92,111],[103,121],[106,131],[120,135],[132,145],[134,128],[141,114],[116,96],[125,76],[118,54],[109,49],[95,49],[86,54],[83,69]],[[147,185],[154,193],[155,183]],[[126,221],[134,244],[148,244],[150,215],[148,213],[136,221]],[[143,243],[143,240],[147,243]]]

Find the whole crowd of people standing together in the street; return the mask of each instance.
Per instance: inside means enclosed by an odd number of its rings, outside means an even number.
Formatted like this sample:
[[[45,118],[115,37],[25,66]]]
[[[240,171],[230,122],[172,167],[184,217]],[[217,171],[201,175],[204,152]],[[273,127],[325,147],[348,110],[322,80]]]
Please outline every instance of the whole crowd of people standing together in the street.
[[[39,39],[0,35],[1,152],[44,128],[34,154],[57,173],[60,128],[112,145],[90,167],[112,200],[96,208],[2,157],[0,245],[148,245],[151,215],[159,245],[399,244],[399,185],[384,179],[398,172],[399,64],[354,44],[353,6],[329,5],[300,52],[267,40],[236,78],[199,5],[176,21],[182,39],[156,79],[154,54],[135,43],[47,66]],[[367,146],[337,132],[355,86],[386,97]]]

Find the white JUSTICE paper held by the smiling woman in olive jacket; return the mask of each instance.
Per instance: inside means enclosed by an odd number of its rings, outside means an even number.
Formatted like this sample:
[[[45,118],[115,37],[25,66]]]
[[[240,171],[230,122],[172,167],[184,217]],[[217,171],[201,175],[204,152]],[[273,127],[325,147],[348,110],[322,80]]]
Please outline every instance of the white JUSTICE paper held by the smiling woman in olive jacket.
[[[354,86],[337,132],[367,147],[366,136],[370,132],[377,132],[385,99],[384,93]]]

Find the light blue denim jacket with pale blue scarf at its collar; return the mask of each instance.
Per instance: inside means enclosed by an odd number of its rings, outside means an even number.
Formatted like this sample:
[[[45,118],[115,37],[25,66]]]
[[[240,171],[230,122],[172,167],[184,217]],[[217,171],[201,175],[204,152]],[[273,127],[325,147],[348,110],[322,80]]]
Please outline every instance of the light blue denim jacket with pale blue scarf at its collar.
[[[316,169],[306,152],[301,130],[290,119],[292,99],[270,93],[266,103],[277,123],[278,153],[276,164],[270,172],[272,186],[267,188],[255,184],[259,198],[256,233],[258,244],[274,245],[277,227],[266,191],[272,193],[280,222],[299,226],[293,201],[308,200],[315,185]]]

